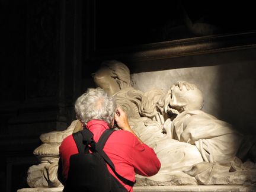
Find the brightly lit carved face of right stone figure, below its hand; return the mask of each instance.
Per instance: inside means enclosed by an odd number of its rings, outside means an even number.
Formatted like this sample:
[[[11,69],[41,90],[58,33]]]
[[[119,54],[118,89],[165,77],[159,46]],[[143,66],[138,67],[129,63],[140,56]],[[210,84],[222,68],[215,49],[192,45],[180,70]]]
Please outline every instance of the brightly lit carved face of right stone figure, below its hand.
[[[183,87],[180,90],[178,85],[172,85],[169,97],[169,108],[177,110],[178,113],[184,110],[201,110],[203,107],[203,94],[196,87],[189,90]]]

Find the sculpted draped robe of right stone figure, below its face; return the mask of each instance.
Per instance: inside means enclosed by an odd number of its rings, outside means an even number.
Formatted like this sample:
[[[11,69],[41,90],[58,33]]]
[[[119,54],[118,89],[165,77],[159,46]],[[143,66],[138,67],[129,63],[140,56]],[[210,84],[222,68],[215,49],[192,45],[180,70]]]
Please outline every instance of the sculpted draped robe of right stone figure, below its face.
[[[171,123],[173,139],[196,145],[206,162],[231,162],[239,149],[241,133],[231,124],[200,110],[183,111]]]

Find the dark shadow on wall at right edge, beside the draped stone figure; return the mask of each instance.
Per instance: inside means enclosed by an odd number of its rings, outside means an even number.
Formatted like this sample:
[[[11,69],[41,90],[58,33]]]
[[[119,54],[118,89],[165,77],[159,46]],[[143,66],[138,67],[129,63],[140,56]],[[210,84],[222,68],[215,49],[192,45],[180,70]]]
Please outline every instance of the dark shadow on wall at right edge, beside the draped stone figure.
[[[220,66],[219,117],[245,135],[256,135],[256,58],[240,52],[232,57],[236,60]]]

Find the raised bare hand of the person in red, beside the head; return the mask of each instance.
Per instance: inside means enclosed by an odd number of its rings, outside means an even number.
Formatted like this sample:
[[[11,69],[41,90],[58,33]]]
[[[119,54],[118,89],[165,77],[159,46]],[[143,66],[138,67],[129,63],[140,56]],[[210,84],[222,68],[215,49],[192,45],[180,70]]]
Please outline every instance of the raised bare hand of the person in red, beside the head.
[[[120,107],[117,107],[114,118],[120,129],[131,130],[127,114]]]

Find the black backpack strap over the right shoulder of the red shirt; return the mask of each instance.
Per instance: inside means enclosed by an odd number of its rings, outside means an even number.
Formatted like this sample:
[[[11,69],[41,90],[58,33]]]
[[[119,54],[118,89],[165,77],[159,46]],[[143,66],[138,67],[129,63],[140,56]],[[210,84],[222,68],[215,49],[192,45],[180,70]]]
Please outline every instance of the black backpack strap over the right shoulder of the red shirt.
[[[103,151],[103,148],[105,146],[105,142],[107,142],[108,137],[110,137],[110,135],[114,132],[115,130],[113,129],[106,129],[103,134],[101,135],[100,139],[98,140],[96,149],[98,151],[98,153],[100,153],[100,155],[104,158],[105,162],[107,162],[107,164],[110,166],[110,168],[112,169],[112,171],[114,172],[114,174],[116,174],[116,176],[123,181],[123,183],[133,186],[136,182],[134,181],[130,181],[127,180],[126,178],[124,178],[123,176],[119,175],[116,172],[116,169],[114,167],[113,162],[110,160],[110,158],[108,158],[107,154]]]

